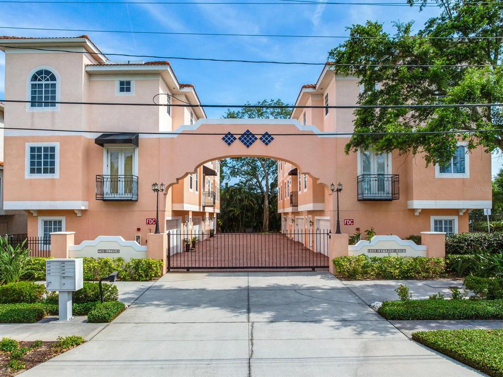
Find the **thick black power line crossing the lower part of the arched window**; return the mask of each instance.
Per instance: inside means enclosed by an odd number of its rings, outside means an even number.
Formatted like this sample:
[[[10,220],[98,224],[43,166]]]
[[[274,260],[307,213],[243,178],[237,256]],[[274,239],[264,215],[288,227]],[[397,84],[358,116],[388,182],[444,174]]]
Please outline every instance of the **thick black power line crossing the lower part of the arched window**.
[[[503,107],[503,103],[491,104],[435,104],[435,105],[187,105],[187,104],[156,104],[156,103],[121,103],[121,102],[77,102],[77,101],[28,101],[0,100],[5,103],[20,104],[60,104],[60,105],[97,105],[97,106],[156,106],[156,107],[189,107],[189,108],[232,108],[232,109],[437,109],[437,108],[492,108]]]

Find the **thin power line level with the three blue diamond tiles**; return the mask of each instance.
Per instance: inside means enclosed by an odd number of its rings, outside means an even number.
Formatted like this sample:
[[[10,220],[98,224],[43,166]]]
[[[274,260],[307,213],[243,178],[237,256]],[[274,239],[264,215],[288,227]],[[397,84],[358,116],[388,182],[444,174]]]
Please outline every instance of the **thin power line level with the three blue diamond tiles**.
[[[223,118],[231,119],[231,118]],[[223,120],[222,119],[222,120]],[[84,130],[68,130],[68,129],[52,129],[52,128],[29,128],[29,127],[0,127],[0,130],[18,130],[18,131],[47,131],[47,132],[61,132],[61,133],[88,133],[88,134],[109,134],[117,133],[114,131],[84,131]],[[475,134],[485,132],[502,132],[503,128],[483,129],[483,130],[446,130],[446,131],[403,131],[403,132],[321,132],[320,133],[271,133],[271,136],[385,136],[385,135],[434,135],[434,134]],[[225,136],[227,133],[219,132],[192,132],[186,130],[185,132],[177,131],[127,131],[128,133],[142,134],[142,135],[186,135],[186,136]],[[304,131],[309,132],[309,130]]]

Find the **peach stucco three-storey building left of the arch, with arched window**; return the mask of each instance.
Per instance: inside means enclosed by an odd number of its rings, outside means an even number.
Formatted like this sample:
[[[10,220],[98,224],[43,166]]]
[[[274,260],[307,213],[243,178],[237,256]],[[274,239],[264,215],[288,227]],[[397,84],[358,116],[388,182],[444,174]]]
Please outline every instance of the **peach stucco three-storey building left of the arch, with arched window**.
[[[166,61],[111,62],[87,36],[0,40],[7,46],[6,98],[27,101],[5,104],[6,127],[25,130],[6,133],[4,208],[28,212],[28,236],[74,231],[77,243],[119,235],[144,245],[155,228],[151,184],[163,180],[159,166],[170,163],[155,135],[206,117],[194,86],[180,83]],[[153,98],[195,106],[50,103],[152,104]],[[164,181],[161,232],[207,233],[216,226],[219,161],[191,169],[176,184]]]

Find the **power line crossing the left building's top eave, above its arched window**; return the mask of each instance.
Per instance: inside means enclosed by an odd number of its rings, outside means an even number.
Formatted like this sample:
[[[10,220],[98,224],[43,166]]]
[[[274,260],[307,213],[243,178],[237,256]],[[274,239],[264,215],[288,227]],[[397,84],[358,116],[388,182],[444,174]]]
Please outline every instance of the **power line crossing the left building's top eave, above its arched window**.
[[[47,49],[40,47],[14,47],[9,45],[0,45],[0,47],[28,49],[38,51],[50,52],[68,52],[74,54],[93,54],[87,51],[70,51],[60,49]],[[500,67],[503,64],[366,64],[366,63],[314,63],[314,62],[299,62],[299,61],[275,61],[275,60],[244,60],[244,59],[217,59],[217,58],[190,58],[182,56],[159,56],[159,55],[132,55],[132,54],[119,54],[119,53],[104,53],[107,56],[126,56],[135,58],[152,58],[152,59],[170,59],[170,60],[192,60],[192,61],[212,61],[212,62],[226,62],[226,63],[255,63],[255,64],[284,64],[284,65],[328,65],[332,67],[409,67],[409,68],[433,68],[433,67],[446,67],[446,68],[468,68],[468,67]],[[112,62],[113,63],[113,62]]]

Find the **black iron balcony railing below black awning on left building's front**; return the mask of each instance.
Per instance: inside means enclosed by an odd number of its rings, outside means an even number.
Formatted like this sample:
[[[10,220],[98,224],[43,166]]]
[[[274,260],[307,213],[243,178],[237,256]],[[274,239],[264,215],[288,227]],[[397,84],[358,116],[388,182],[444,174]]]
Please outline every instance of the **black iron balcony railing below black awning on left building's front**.
[[[138,201],[138,177],[136,175],[97,175],[96,200],[105,202]]]

